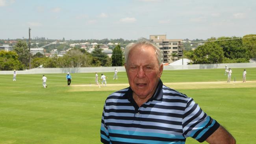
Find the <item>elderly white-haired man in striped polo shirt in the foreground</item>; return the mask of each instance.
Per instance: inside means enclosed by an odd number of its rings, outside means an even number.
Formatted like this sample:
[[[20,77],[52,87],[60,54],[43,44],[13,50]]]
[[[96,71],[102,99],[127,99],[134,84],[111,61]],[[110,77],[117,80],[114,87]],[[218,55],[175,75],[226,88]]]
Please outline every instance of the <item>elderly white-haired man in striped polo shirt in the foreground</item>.
[[[200,107],[163,85],[160,49],[141,39],[126,46],[125,68],[130,87],[106,99],[101,142],[104,144],[184,144],[187,137],[211,144],[235,139]]]

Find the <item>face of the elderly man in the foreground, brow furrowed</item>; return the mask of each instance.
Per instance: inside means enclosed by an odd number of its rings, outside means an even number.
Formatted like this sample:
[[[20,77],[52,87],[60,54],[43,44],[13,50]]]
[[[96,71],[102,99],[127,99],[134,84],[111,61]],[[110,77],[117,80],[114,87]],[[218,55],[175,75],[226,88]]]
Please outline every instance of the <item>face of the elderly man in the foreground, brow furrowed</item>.
[[[155,92],[163,71],[154,48],[138,45],[133,48],[125,64],[130,87],[140,99],[149,99]]]

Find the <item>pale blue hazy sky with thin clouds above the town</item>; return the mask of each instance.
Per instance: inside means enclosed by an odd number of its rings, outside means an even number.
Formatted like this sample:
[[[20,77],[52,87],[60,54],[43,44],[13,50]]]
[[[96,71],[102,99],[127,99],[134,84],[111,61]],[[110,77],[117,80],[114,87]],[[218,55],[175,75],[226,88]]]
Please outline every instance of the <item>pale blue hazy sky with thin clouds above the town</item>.
[[[255,0],[0,0],[0,39],[208,39],[256,34]]]

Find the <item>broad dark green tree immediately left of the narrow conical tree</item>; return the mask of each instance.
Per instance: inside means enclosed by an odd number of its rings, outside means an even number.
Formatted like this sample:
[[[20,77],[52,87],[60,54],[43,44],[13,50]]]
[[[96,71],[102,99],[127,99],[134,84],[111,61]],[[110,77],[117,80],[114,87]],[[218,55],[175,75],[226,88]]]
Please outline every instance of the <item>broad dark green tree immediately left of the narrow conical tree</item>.
[[[93,52],[93,60],[92,64],[95,66],[111,66],[111,63],[109,63],[110,59],[107,54],[104,54],[101,52],[102,49],[100,48],[100,45],[97,45]]]

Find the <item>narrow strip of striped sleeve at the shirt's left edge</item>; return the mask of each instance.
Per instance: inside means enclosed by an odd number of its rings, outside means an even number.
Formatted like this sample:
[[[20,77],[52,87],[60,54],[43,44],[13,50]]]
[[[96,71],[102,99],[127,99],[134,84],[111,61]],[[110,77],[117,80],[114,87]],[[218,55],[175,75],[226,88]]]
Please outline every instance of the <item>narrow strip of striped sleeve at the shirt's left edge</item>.
[[[103,113],[102,113],[102,120],[101,120],[101,126],[100,126],[100,141],[103,144],[109,144],[109,133],[108,133],[108,127],[105,125],[105,110],[106,110],[106,103],[104,105]]]

